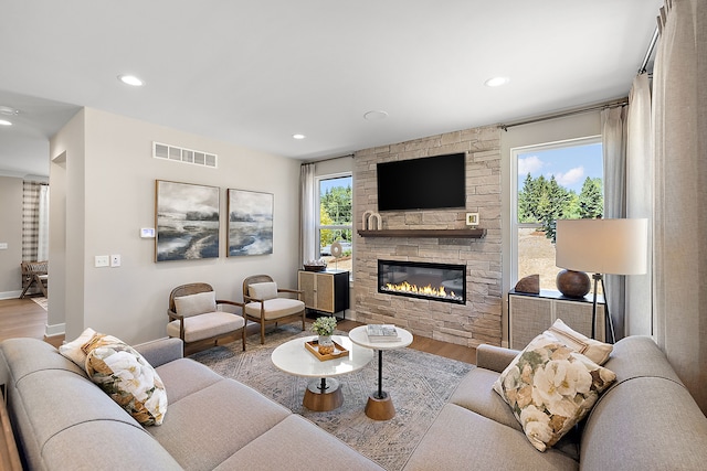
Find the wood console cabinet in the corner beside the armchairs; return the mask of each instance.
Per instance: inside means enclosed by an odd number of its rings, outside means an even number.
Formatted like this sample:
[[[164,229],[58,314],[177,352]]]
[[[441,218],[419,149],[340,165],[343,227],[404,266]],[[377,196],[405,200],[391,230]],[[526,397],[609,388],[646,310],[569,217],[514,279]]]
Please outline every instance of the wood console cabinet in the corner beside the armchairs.
[[[305,307],[334,314],[349,309],[349,272],[325,270],[297,272],[298,289],[304,291]]]

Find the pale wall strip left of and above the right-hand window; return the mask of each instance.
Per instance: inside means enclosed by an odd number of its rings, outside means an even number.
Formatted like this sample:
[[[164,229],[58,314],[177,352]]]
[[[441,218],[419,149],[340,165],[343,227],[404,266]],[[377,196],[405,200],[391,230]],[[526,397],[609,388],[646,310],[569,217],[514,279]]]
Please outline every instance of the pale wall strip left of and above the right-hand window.
[[[508,290],[517,280],[510,279],[511,253],[510,204],[511,182],[517,175],[511,172],[510,151],[514,148],[557,142],[569,139],[601,135],[601,116],[599,111],[583,113],[566,118],[551,119],[508,128],[500,132],[502,159],[502,222],[503,222],[503,339],[504,346],[508,346]],[[558,268],[559,271],[559,268]]]

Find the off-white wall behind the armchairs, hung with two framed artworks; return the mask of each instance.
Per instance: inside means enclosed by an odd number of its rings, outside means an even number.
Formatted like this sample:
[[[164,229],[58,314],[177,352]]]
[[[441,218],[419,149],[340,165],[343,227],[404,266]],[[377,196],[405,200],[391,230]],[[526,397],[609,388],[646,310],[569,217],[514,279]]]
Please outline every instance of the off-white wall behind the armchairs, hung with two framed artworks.
[[[82,120],[83,149],[73,129],[76,124],[82,128]],[[152,141],[217,153],[219,168],[154,159]],[[65,310],[67,340],[86,327],[130,343],[165,336],[169,292],[186,282],[209,282],[218,298],[234,300],[242,300],[243,278],[253,274],[270,274],[281,286],[296,286],[299,161],[91,108],[52,139],[52,156],[62,152],[66,162],[56,167],[65,168],[65,185],[55,190],[51,182],[51,217],[61,216],[64,201],[65,240],[61,227],[53,225],[50,258],[52,269],[66,274],[66,299],[55,307],[60,297],[52,292],[50,318],[59,323],[52,311]],[[140,238],[139,229],[155,227],[155,180],[221,189],[218,259],[154,261],[155,240]],[[274,194],[272,255],[225,256],[229,188]],[[57,264],[62,253],[65,260]],[[96,255],[110,254],[122,256],[119,268],[94,267]]]

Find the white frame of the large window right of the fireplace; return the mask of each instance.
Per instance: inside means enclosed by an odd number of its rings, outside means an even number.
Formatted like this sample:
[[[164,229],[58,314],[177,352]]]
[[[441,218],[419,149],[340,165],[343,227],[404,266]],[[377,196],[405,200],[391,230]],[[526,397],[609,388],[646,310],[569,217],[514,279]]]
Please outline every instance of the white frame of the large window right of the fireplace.
[[[563,139],[560,141],[536,143],[529,146],[519,146],[510,149],[510,167],[511,167],[511,182],[510,182],[510,280],[511,285],[518,282],[518,229],[521,228],[540,228],[541,223],[519,223],[518,222],[518,156],[529,153],[532,151],[546,151],[556,150],[570,147],[590,146],[602,143],[601,135],[587,136],[574,139]],[[605,172],[602,165],[602,181],[605,181]],[[558,268],[558,271],[560,269]]]

